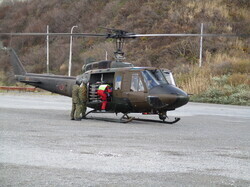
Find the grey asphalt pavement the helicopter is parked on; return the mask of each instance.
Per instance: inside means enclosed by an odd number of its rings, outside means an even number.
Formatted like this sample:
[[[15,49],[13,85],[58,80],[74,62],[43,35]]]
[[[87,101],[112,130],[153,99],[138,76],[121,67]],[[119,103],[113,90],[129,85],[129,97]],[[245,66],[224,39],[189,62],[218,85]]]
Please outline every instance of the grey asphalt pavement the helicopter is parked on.
[[[0,94],[0,186],[250,186],[250,107],[188,103],[173,125],[71,121],[70,109]]]

